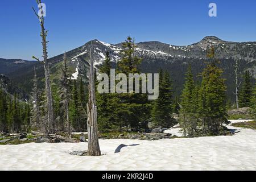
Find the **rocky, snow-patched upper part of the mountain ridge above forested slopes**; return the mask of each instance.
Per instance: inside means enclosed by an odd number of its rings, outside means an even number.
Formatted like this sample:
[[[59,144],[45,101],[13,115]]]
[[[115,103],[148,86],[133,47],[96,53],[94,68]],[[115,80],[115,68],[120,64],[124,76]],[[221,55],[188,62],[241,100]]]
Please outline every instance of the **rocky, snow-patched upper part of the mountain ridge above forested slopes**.
[[[93,45],[93,47],[92,47]],[[187,59],[206,59],[207,49],[210,46],[215,47],[216,57],[219,59],[243,59],[251,62],[256,60],[256,42],[236,43],[227,42],[218,39],[215,36],[207,36],[200,42],[189,46],[174,46],[161,42],[142,42],[137,44],[136,52],[141,57],[152,60],[169,60],[171,62]],[[79,75],[83,76],[88,67],[90,59],[90,48],[92,47],[92,58],[96,67],[105,59],[106,51],[110,53],[113,63],[121,59],[121,44],[109,44],[100,40],[92,40],[84,46],[67,52],[69,65],[73,67],[72,79]],[[63,60],[63,55],[50,59],[51,63],[57,63]]]

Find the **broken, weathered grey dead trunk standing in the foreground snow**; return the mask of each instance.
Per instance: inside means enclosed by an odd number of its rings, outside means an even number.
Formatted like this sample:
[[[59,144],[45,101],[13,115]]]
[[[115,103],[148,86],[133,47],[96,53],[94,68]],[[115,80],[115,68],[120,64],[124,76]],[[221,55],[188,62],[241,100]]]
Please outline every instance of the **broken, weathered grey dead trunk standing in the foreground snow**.
[[[87,103],[87,129],[88,129],[88,151],[87,155],[101,155],[98,143],[97,106],[95,98],[94,67],[92,60],[92,47],[90,48],[90,75],[89,75],[89,101]]]

